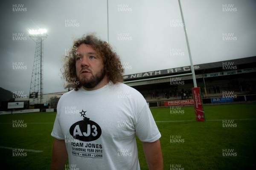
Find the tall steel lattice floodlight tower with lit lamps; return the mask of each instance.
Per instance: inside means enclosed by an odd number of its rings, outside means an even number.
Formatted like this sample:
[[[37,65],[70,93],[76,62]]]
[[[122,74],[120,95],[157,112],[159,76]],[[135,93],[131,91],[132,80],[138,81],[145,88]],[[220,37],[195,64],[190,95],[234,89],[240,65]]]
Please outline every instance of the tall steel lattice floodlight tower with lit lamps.
[[[39,104],[43,98],[43,41],[47,38],[46,29],[30,29],[29,37],[36,43],[35,58],[29,90],[32,104]],[[40,96],[40,100],[38,97]]]

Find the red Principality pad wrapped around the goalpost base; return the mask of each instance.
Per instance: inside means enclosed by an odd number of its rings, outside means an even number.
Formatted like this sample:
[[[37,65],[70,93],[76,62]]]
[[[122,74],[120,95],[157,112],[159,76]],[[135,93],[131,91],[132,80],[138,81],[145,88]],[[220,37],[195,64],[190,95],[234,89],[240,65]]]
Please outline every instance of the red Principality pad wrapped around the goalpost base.
[[[205,121],[203,101],[201,98],[200,88],[192,88],[192,95],[194,99],[195,116],[197,121]]]

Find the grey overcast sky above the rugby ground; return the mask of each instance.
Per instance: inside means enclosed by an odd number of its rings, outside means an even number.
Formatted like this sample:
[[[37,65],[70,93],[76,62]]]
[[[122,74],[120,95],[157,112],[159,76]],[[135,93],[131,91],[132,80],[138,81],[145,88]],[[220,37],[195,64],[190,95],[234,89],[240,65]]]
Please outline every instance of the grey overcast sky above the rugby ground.
[[[181,6],[194,65],[256,55],[255,0],[181,0]],[[109,41],[125,74],[190,65],[178,0],[8,0],[0,8],[0,87],[9,91],[29,94],[35,55],[29,29],[47,29],[44,94],[64,91],[65,51],[90,32]]]

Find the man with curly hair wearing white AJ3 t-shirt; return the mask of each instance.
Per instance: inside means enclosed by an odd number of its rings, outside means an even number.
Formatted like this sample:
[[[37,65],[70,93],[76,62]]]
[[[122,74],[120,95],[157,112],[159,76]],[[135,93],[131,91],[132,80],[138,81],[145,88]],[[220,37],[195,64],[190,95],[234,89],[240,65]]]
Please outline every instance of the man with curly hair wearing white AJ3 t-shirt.
[[[93,34],[74,42],[63,76],[73,88],[58,102],[52,170],[140,170],[137,136],[149,170],[162,170],[161,134],[143,96],[122,83],[119,57]]]

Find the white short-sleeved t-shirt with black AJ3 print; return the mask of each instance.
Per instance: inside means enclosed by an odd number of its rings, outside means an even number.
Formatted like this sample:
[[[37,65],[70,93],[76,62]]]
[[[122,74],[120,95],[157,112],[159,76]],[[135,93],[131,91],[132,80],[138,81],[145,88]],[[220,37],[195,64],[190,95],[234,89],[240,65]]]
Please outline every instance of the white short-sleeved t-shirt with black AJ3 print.
[[[65,140],[69,168],[79,170],[140,170],[135,134],[142,142],[161,137],[143,96],[111,82],[63,94],[51,133]]]

